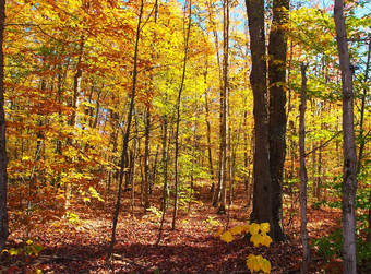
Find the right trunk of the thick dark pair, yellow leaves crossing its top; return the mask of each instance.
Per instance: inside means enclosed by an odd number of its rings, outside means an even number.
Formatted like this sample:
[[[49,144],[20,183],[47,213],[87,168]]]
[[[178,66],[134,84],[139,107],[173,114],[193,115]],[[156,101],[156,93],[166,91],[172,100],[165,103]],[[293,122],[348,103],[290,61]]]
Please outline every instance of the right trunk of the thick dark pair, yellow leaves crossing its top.
[[[285,25],[288,22],[289,0],[273,1],[273,20],[268,45],[270,78],[270,168],[272,187],[273,240],[284,240],[283,178],[286,155],[286,52]]]

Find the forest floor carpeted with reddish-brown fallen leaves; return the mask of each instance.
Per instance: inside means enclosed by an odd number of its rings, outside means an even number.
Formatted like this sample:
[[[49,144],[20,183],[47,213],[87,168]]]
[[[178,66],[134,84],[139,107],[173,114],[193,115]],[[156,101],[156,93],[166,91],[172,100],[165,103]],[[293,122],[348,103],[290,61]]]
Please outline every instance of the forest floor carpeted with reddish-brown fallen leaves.
[[[122,211],[117,227],[113,261],[105,264],[111,237],[110,202],[99,206],[74,205],[74,218],[46,223],[32,231],[11,229],[1,254],[1,273],[250,273],[247,257],[262,254],[272,264],[272,273],[299,273],[301,261],[300,219],[298,202],[285,209],[285,233],[289,240],[270,248],[254,248],[247,238],[237,237],[226,243],[215,238],[215,231],[225,226],[247,224],[250,209],[244,191],[236,191],[229,214],[218,215],[211,206],[208,188],[200,186],[190,211],[179,209],[177,226],[171,230],[172,207],[165,218],[158,246],[160,212],[144,213],[134,209],[131,215],[130,192],[124,192]],[[158,199],[160,190],[154,190]],[[154,195],[155,196],[155,195]],[[201,202],[202,201],[202,202]],[[157,205],[158,206],[158,205]],[[294,206],[294,207],[291,207]],[[326,236],[338,227],[339,210],[309,206],[310,237]],[[12,216],[12,214],[10,214]],[[79,216],[79,217],[77,217]],[[10,219],[10,227],[16,222]],[[32,241],[25,241],[25,236]],[[10,252],[10,251],[13,252]],[[12,253],[12,254],[10,254]],[[37,255],[36,255],[37,253]],[[310,273],[340,273],[342,262],[319,258],[312,249]]]

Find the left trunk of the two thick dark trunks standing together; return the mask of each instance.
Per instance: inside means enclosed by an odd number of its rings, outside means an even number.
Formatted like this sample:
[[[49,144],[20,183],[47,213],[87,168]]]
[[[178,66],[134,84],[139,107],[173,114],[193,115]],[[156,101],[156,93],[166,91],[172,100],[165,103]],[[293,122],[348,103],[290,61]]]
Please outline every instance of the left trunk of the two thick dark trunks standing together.
[[[272,225],[268,108],[264,32],[264,0],[246,0],[252,69],[250,83],[254,97],[255,151],[252,219]]]

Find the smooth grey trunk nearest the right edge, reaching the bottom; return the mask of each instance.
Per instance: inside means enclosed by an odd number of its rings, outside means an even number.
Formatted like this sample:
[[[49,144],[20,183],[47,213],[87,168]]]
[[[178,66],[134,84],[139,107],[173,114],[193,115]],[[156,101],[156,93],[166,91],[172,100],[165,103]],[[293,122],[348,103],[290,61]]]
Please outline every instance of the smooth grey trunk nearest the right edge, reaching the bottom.
[[[344,182],[343,182],[343,273],[356,274],[356,218],[357,155],[354,126],[352,68],[348,51],[344,16],[344,0],[335,0],[334,19],[343,84],[343,134],[344,134]]]

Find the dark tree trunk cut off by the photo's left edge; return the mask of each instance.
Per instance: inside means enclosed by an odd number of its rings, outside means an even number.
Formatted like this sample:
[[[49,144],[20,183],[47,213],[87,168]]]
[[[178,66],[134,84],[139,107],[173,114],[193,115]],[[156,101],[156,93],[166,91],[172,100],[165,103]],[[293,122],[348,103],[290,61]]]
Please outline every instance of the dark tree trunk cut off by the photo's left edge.
[[[7,210],[7,146],[5,146],[5,114],[4,114],[4,58],[2,51],[5,21],[5,1],[0,1],[0,251],[8,239]]]

